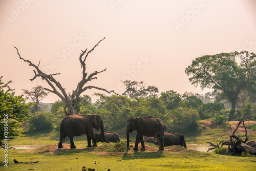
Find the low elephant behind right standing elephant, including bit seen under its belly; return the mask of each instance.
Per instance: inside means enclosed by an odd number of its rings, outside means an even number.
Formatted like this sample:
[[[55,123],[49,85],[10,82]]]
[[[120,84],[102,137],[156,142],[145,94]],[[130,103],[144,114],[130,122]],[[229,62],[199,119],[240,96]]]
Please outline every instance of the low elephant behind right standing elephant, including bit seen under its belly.
[[[144,141],[149,143],[154,143],[156,145],[159,144],[159,141],[154,137],[144,137]],[[166,132],[163,143],[164,143],[164,146],[180,145],[187,148],[186,139],[183,134]]]

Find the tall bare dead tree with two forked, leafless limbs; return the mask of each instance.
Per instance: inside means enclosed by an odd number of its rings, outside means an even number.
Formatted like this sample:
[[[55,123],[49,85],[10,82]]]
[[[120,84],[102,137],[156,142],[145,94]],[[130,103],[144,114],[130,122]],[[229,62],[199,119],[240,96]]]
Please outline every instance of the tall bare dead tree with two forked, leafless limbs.
[[[105,37],[103,39],[105,39]],[[46,73],[42,72],[39,69],[40,61],[39,61],[38,65],[36,66],[30,60],[25,60],[24,58],[22,58],[18,52],[18,49],[16,47],[14,47],[14,48],[17,50],[19,59],[24,60],[24,62],[28,62],[29,66],[34,67],[35,76],[30,80],[33,81],[37,77],[41,77],[41,79],[46,80],[52,89],[48,89],[48,88],[44,88],[44,89],[53,94],[56,94],[63,102],[65,102],[66,105],[65,105],[64,111],[66,113],[66,116],[68,116],[68,115],[74,115],[77,113],[76,106],[81,101],[80,95],[81,95],[81,93],[83,93],[84,91],[86,91],[88,89],[97,89],[97,90],[102,90],[102,91],[105,91],[108,93],[111,93],[111,92],[115,93],[113,90],[107,91],[105,89],[102,89],[102,88],[99,88],[96,86],[84,86],[84,85],[86,85],[86,83],[88,83],[88,81],[97,79],[96,75],[98,73],[102,73],[102,72],[106,71],[106,69],[104,69],[102,71],[95,71],[91,74],[88,74],[86,72],[86,59],[87,59],[88,55],[99,45],[99,43],[103,39],[101,39],[91,50],[87,51],[88,49],[86,49],[85,51],[82,51],[82,53],[80,54],[79,61],[80,61],[80,65],[82,68],[82,78],[81,78],[81,81],[78,82],[76,89],[73,90],[72,93],[68,93],[68,94],[67,94],[66,90],[61,86],[60,82],[54,78],[55,75],[59,75],[60,73],[46,74]]]

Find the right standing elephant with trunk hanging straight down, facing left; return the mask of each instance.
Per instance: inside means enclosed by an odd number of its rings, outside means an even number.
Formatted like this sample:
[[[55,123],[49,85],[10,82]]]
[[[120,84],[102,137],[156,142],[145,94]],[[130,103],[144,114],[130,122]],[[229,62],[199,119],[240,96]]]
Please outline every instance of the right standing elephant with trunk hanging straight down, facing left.
[[[144,116],[138,118],[129,118],[126,123],[126,138],[127,138],[127,148],[129,148],[130,133],[137,130],[135,147],[134,150],[138,150],[139,140],[141,142],[141,151],[145,150],[145,144],[143,136],[156,137],[160,142],[160,149],[164,149],[163,137],[166,131],[165,124],[159,118],[154,116]]]

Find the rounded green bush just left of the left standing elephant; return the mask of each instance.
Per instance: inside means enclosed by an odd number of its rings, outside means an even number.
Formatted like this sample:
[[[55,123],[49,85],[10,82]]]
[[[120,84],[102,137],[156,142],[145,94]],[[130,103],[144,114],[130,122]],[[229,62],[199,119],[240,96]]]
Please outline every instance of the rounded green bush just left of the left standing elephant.
[[[32,117],[28,121],[28,131],[51,131],[55,127],[55,120],[55,116],[50,112],[32,114]]]

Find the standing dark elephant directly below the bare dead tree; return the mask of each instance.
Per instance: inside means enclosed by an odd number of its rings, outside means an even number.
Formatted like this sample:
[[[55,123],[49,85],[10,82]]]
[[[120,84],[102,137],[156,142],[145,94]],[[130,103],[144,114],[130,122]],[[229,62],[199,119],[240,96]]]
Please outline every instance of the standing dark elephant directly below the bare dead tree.
[[[80,115],[69,115],[63,118],[60,124],[60,135],[58,148],[63,148],[62,141],[65,137],[69,137],[70,148],[76,148],[73,138],[75,136],[87,135],[87,147],[91,147],[91,139],[93,140],[93,146],[97,146],[96,138],[93,133],[93,129],[101,131],[102,139],[104,142],[108,142],[104,136],[104,124],[99,114],[80,114]]]

